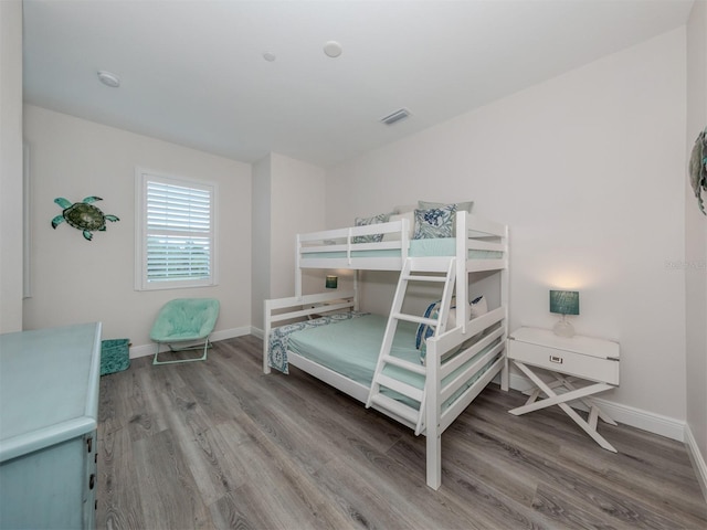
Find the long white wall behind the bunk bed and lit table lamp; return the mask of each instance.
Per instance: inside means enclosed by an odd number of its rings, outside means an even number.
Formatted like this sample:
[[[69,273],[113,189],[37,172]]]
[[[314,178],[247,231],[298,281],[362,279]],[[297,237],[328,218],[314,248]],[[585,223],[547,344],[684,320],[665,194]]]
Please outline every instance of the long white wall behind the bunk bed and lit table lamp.
[[[684,420],[685,78],[679,29],[342,163],[327,226],[474,200],[510,226],[511,328],[550,327],[548,289],[580,290],[578,332],[622,347],[606,400]]]

